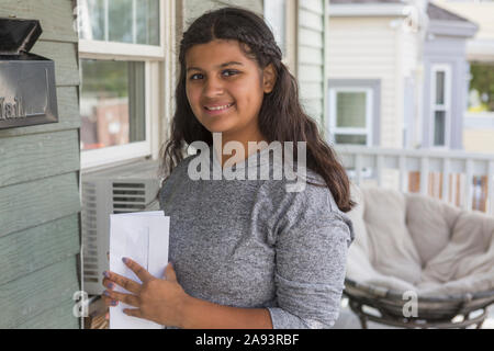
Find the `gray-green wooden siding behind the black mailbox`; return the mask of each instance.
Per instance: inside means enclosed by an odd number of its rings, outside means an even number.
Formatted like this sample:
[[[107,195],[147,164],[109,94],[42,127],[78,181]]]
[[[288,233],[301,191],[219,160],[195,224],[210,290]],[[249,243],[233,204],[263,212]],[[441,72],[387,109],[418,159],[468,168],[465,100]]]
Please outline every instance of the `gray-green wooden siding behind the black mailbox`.
[[[59,122],[0,131],[0,328],[79,328],[78,46],[72,0],[2,0],[40,20],[32,53],[55,61]]]

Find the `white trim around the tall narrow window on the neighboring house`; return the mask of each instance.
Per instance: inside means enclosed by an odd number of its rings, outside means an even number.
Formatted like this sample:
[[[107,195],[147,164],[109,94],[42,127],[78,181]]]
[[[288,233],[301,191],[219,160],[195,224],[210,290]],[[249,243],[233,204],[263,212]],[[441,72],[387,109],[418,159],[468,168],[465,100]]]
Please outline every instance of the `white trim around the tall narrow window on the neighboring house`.
[[[445,103],[436,103],[436,72],[445,72]],[[430,69],[430,122],[429,122],[429,143],[434,149],[448,149],[451,143],[451,65],[434,64]],[[436,111],[445,111],[445,145],[434,145]]]

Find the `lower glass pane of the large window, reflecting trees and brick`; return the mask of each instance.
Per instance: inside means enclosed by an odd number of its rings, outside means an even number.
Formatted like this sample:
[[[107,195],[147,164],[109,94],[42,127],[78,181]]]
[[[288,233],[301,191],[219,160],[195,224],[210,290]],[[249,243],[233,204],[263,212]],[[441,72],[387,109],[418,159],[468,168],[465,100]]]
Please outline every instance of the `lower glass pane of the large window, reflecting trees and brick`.
[[[81,59],[81,150],[146,140],[144,63]]]

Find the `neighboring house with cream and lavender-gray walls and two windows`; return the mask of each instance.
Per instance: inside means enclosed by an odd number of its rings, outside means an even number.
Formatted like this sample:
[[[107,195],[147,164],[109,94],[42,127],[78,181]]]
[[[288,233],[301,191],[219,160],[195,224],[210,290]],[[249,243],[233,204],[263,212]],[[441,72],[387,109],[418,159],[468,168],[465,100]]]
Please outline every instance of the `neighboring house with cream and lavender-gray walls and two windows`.
[[[476,25],[427,1],[332,0],[329,13],[332,139],[462,148],[465,42]]]

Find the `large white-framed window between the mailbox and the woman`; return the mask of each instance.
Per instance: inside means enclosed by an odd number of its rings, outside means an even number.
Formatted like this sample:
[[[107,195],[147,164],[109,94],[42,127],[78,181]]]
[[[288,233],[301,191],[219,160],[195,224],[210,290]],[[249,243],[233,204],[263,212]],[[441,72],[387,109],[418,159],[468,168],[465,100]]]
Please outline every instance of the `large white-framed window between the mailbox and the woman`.
[[[151,155],[167,2],[78,1],[82,169]]]

